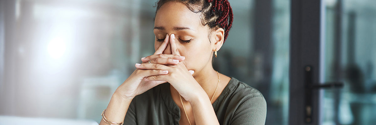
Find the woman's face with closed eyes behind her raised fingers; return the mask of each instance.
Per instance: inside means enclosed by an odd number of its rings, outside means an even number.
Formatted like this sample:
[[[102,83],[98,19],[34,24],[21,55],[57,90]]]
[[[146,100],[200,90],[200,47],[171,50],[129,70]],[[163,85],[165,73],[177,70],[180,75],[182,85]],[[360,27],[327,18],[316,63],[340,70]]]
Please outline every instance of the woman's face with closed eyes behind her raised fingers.
[[[209,41],[209,28],[201,24],[200,13],[190,11],[179,2],[162,5],[156,13],[154,23],[155,50],[162,44],[166,34],[172,33],[180,55],[185,56],[188,70],[194,70],[196,74],[205,66],[211,66],[214,40]],[[171,54],[170,44],[163,54]]]

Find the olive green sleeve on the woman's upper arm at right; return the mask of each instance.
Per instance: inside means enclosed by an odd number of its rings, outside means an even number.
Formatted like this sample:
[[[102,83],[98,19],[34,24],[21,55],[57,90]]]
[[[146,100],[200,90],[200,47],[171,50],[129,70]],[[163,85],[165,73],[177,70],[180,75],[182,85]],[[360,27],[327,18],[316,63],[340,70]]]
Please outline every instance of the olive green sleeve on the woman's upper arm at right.
[[[231,125],[265,125],[266,101],[264,96],[254,96],[241,102],[235,110]]]

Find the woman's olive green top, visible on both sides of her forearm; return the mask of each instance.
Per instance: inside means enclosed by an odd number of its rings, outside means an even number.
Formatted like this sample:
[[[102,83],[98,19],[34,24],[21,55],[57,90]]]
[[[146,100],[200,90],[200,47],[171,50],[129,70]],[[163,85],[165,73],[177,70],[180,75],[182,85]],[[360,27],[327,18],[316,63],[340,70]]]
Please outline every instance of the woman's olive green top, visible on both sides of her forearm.
[[[265,124],[264,96],[233,77],[212,105],[221,125]],[[170,84],[163,83],[133,98],[124,125],[179,125],[179,119]]]

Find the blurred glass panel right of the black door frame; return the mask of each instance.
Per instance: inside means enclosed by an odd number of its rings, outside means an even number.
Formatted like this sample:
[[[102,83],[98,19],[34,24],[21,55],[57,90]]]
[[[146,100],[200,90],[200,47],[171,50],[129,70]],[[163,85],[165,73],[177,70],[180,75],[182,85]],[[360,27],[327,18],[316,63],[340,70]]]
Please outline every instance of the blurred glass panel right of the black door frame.
[[[343,89],[323,91],[323,125],[376,123],[376,1],[324,0],[325,81]]]

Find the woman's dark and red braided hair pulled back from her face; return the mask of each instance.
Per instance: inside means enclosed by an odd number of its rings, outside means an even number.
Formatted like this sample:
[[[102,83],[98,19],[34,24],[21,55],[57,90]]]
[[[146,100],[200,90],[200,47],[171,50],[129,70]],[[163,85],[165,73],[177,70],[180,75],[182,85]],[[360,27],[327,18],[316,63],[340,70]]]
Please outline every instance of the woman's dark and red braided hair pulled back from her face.
[[[156,2],[156,11],[167,2],[180,2],[192,12],[201,13],[202,25],[208,25],[210,29],[223,28],[223,42],[226,41],[233,21],[232,8],[228,0],[159,0]]]

